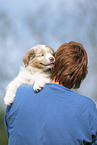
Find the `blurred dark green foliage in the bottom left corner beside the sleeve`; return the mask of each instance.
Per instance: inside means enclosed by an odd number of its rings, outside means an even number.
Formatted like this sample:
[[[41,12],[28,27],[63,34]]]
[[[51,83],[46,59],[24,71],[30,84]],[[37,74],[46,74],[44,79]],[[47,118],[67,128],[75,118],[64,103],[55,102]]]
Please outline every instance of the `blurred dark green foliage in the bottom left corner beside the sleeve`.
[[[0,145],[7,145],[7,135],[4,127],[4,111],[0,112]]]

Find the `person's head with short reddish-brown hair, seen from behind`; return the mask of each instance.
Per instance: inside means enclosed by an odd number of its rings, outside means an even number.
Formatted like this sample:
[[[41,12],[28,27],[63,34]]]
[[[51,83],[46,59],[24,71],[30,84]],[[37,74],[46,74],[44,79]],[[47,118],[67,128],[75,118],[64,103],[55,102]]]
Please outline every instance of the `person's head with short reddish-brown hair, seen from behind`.
[[[88,57],[82,44],[71,41],[62,44],[55,53],[51,80],[78,89],[87,75]]]

